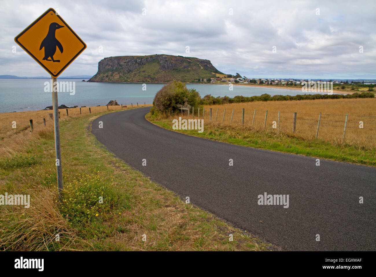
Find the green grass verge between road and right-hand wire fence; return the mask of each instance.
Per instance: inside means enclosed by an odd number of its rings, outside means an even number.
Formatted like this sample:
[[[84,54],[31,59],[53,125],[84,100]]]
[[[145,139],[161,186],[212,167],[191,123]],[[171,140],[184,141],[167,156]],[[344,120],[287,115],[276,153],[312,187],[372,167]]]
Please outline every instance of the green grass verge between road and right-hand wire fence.
[[[172,119],[156,120],[150,116],[150,113],[146,115],[146,119],[162,128],[200,138],[376,167],[376,149],[357,148],[347,144],[334,145],[320,139],[303,140],[282,133],[226,127],[219,124],[206,124],[202,133],[198,133],[197,130],[173,130]]]

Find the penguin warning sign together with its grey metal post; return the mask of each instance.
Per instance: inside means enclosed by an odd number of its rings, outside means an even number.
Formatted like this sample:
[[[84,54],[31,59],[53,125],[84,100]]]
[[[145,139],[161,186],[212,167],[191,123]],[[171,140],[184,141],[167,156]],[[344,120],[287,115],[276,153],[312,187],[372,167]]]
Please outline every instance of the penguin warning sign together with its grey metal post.
[[[51,75],[56,173],[59,200],[61,201],[63,175],[60,150],[58,82],[56,78],[85,50],[86,44],[52,8],[45,11],[17,35],[14,41]]]

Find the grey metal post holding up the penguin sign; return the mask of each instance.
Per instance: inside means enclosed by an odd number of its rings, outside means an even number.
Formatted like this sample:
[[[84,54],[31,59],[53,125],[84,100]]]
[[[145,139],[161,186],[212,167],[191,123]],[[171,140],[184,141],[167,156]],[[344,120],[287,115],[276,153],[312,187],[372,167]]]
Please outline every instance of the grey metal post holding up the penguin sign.
[[[59,127],[59,105],[57,78],[51,76],[52,107],[53,107],[53,125],[55,131],[55,154],[56,154],[56,173],[58,176],[59,201],[61,202],[61,193],[63,191],[63,171],[61,167],[61,148],[60,148],[60,127]]]

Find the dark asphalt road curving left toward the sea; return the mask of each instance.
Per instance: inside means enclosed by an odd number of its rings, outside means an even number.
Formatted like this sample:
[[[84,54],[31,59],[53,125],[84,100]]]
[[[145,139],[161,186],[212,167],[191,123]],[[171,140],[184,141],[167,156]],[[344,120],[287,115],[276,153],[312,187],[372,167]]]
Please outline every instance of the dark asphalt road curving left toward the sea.
[[[283,250],[376,250],[376,168],[183,135],[148,122],[149,110],[100,116],[92,132],[153,181]],[[265,192],[288,194],[289,207],[258,205]]]

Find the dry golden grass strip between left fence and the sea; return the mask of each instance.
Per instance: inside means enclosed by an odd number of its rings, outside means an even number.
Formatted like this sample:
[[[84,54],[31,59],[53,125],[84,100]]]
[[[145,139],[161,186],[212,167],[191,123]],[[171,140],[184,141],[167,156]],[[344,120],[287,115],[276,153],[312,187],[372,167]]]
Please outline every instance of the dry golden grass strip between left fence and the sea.
[[[143,107],[144,105],[139,105]],[[146,104],[152,106],[152,104]],[[133,105],[136,107],[136,105]],[[123,106],[123,110],[130,109],[131,106]],[[105,112],[107,106],[90,107],[91,113]],[[121,110],[121,106],[108,106],[108,110]],[[20,146],[24,145],[26,141],[33,137],[43,136],[50,129],[53,130],[53,119],[49,113],[52,110],[38,110],[27,112],[13,112],[13,113],[0,113],[0,156],[11,155]],[[59,109],[60,120],[65,120],[71,117],[89,114],[89,107],[71,108],[68,109],[68,116],[66,109]],[[46,126],[44,126],[43,118],[45,118]],[[33,120],[33,132],[30,132],[30,119]],[[12,128],[13,121],[16,122],[15,127]]]

